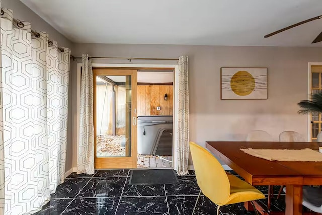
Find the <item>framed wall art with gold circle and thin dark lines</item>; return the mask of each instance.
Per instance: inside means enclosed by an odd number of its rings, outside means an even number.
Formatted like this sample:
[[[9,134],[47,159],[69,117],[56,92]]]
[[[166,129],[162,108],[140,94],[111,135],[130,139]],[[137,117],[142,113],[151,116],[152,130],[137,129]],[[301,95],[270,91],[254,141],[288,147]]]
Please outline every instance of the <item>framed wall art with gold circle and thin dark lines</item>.
[[[221,68],[221,99],[267,99],[267,68]]]

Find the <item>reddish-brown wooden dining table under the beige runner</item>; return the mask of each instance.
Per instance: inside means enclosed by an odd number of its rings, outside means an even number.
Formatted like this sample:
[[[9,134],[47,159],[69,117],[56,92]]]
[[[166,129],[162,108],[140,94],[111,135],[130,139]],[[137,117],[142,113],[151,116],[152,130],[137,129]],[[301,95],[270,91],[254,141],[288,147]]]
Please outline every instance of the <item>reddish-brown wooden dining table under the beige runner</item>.
[[[285,214],[302,213],[303,185],[322,185],[322,162],[269,161],[240,149],[305,149],[318,150],[318,142],[214,142],[206,148],[251,185],[285,185]],[[247,204],[245,204],[247,206]],[[260,205],[256,205],[258,209]],[[261,211],[260,211],[261,212]],[[264,212],[261,214],[273,214]],[[314,214],[314,213],[310,213]]]

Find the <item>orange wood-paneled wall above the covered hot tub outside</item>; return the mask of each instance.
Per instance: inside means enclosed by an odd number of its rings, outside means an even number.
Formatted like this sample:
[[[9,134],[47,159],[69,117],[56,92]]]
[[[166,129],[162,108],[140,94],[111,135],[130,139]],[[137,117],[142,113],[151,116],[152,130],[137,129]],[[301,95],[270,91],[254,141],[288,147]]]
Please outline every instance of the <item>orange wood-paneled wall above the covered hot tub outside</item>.
[[[137,115],[172,115],[173,114],[172,85],[138,85],[137,86]],[[168,100],[164,100],[165,94]],[[161,110],[156,110],[160,106]]]

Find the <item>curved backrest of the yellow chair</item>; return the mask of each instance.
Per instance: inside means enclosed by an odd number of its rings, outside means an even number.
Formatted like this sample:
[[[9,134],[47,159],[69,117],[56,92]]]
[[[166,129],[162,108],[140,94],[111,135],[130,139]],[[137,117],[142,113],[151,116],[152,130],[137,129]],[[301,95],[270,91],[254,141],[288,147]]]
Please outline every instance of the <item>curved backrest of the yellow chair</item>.
[[[230,183],[220,162],[194,142],[190,142],[190,151],[197,183],[202,193],[215,204],[224,202],[230,195]]]

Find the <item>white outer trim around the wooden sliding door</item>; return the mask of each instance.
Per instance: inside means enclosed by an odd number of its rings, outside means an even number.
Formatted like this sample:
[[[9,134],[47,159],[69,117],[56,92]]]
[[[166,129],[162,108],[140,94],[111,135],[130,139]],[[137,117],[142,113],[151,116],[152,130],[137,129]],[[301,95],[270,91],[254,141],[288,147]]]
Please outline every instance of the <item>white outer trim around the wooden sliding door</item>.
[[[179,71],[179,65],[178,64],[114,64],[114,63],[92,63],[92,67],[95,68],[110,68],[110,69],[160,69],[160,70],[164,70],[165,68],[173,68],[173,133],[176,134],[177,131],[177,114],[178,114],[178,108],[176,108],[176,99],[177,99],[177,91],[178,91],[178,86],[175,84],[176,83],[176,75]],[[80,113],[80,104],[81,104],[81,70],[82,70],[82,63],[77,63],[77,116],[79,116]],[[77,139],[77,143],[74,144],[73,146],[73,152],[77,152],[75,155],[76,157],[73,158],[73,163],[75,163],[74,165],[76,166],[77,164],[77,155],[78,155],[78,142],[79,142],[79,118],[77,117],[76,119],[76,125],[77,125],[77,129],[76,129],[76,138]],[[173,169],[176,169],[177,167],[177,157],[175,154],[175,149],[177,148],[177,142],[175,141],[175,135],[173,135],[172,137],[173,139],[173,146],[172,146],[172,161],[173,161]],[[137,152],[136,152],[137,153]],[[188,168],[192,168],[192,167],[188,167]]]

